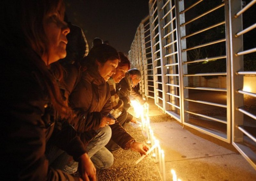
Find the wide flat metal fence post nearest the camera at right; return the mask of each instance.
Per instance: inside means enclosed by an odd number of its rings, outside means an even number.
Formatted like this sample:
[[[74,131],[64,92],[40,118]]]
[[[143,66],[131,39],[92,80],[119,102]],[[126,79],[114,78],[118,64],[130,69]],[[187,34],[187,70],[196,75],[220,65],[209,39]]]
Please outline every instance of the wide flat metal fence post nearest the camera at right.
[[[237,32],[243,30],[242,15],[235,17],[235,14],[242,9],[241,1],[229,0],[229,26],[230,26],[230,58],[231,58],[231,81],[232,81],[232,142],[242,142],[243,133],[236,127],[243,125],[244,116],[237,110],[244,105],[243,94],[237,90],[243,89],[243,75],[236,74],[237,71],[244,69],[243,55],[237,56],[237,52],[243,51],[243,36],[235,37]]]

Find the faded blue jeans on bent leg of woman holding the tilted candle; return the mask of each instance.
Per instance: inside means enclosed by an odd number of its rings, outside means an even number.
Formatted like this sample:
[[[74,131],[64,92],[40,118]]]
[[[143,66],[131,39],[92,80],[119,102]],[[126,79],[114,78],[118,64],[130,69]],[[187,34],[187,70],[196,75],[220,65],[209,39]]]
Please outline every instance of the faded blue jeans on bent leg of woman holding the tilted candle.
[[[97,135],[87,145],[86,151],[97,169],[107,169],[113,165],[114,157],[105,145],[111,138],[111,128],[101,127],[95,130]]]

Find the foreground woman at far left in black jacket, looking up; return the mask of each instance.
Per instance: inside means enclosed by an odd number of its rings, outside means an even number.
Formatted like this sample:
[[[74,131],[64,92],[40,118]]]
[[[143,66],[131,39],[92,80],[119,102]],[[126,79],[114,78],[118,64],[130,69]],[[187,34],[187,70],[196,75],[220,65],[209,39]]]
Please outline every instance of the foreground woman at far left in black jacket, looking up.
[[[57,118],[67,120],[59,146],[80,163],[81,177],[96,170],[72,128],[73,111],[64,101],[50,65],[66,56],[62,0],[0,1],[1,180],[81,180],[49,167],[45,145]],[[74,148],[74,146],[79,146]]]

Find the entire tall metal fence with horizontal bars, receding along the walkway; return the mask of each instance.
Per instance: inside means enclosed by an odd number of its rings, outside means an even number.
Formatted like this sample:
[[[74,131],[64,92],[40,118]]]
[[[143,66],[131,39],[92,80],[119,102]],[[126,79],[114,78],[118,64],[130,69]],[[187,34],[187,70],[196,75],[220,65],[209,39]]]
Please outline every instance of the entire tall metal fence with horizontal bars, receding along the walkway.
[[[150,0],[149,17],[141,22],[135,35],[142,48],[136,48],[134,39],[130,60],[134,67],[143,68],[141,92],[144,90],[146,96],[147,76],[151,81],[153,78],[150,88],[154,88],[152,97],[159,108],[188,127],[232,142],[256,169],[252,150],[256,147],[256,111],[248,108],[244,98],[256,94],[243,87],[244,76],[256,75],[248,63],[244,70],[244,61],[256,61],[255,43],[254,47],[246,43],[256,34],[255,18],[252,22],[255,3],[256,0]],[[150,35],[145,35],[145,30]],[[145,47],[146,37],[151,37],[147,41],[151,48]],[[145,54],[150,51],[145,49],[151,49],[152,62],[147,61]],[[147,64],[151,63],[149,68]]]

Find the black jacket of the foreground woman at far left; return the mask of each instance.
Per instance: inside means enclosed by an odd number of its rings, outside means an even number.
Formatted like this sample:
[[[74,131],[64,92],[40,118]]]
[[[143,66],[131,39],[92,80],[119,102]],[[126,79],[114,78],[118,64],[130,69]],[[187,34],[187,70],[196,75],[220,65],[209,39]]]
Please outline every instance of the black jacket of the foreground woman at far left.
[[[6,48],[1,54],[1,179],[75,180],[77,178],[48,167],[45,145],[51,137],[58,113],[52,108],[44,86],[47,67],[31,49]],[[70,132],[70,131],[69,131]],[[76,141],[66,137],[67,145]],[[65,145],[64,145],[65,147]]]

